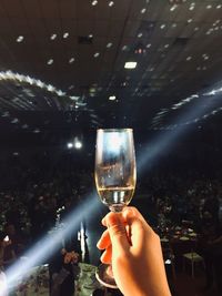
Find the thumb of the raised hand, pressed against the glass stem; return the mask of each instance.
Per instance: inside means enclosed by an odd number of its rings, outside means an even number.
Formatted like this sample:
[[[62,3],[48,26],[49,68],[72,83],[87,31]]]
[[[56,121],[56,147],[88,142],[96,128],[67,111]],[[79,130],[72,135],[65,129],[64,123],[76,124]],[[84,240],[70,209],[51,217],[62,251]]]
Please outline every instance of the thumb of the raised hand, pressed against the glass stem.
[[[109,213],[105,217],[105,224],[110,234],[110,239],[112,243],[112,249],[114,252],[125,251],[130,247],[125,226],[121,218],[120,213]]]

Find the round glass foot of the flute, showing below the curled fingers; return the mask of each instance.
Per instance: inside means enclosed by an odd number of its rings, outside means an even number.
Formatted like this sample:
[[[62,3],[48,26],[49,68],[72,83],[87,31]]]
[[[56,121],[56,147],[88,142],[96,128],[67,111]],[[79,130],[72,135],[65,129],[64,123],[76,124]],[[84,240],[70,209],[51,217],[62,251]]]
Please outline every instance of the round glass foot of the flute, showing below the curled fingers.
[[[95,277],[102,286],[105,286],[112,289],[118,289],[118,286],[115,284],[113,273],[112,273],[112,265],[101,264],[95,272]]]

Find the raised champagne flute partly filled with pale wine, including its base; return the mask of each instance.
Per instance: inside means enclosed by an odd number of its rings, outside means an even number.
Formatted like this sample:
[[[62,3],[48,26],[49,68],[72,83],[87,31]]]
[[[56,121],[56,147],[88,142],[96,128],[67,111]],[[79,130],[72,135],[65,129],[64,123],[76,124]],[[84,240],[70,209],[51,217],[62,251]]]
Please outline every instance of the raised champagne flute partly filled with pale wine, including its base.
[[[135,188],[135,154],[131,129],[97,131],[95,185],[99,196],[112,212],[121,212],[132,200]],[[117,288],[110,265],[101,264],[98,280]]]

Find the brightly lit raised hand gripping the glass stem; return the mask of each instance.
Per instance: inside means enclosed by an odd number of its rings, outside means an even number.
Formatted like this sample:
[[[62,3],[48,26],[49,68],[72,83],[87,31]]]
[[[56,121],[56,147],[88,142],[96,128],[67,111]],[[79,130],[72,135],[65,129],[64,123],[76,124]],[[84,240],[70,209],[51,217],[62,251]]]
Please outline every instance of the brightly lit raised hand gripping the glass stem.
[[[102,263],[112,264],[124,296],[170,296],[159,236],[134,207],[109,213],[98,242]]]

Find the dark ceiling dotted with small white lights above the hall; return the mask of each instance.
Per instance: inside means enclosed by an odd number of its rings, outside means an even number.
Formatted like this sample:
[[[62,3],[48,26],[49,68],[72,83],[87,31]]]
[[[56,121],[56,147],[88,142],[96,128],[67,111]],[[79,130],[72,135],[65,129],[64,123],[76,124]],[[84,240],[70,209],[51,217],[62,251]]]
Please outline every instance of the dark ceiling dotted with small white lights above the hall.
[[[221,0],[1,0],[1,136],[218,126],[221,48]]]

